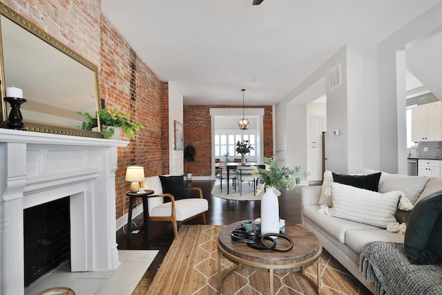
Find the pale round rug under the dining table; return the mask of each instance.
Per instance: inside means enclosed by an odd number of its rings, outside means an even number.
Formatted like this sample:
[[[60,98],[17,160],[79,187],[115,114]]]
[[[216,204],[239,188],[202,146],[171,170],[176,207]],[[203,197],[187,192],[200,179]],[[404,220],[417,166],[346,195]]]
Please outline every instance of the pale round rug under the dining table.
[[[229,184],[229,194],[227,194],[227,183],[222,184],[222,191],[220,184],[217,184],[213,187],[211,194],[215,197],[226,199],[226,200],[240,200],[240,201],[259,201],[262,198],[262,195],[264,194],[264,190],[262,190],[259,194],[255,193],[255,196],[253,196],[253,185],[249,185],[247,183],[242,184],[242,193],[240,194],[240,189],[238,185],[236,186],[236,191],[232,187],[231,184]],[[258,184],[257,191],[260,190],[262,187],[262,184]],[[280,196],[280,191],[277,189],[274,189],[276,196]]]

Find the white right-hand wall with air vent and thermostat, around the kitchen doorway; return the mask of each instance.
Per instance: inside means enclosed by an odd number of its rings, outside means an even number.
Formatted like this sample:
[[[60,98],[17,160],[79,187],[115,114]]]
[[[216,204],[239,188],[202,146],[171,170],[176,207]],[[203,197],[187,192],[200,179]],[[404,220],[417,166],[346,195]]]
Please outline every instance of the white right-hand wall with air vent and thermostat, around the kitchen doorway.
[[[314,71],[298,87],[291,91],[280,103],[276,105],[276,150],[284,150],[286,158],[290,159],[291,166],[307,166],[307,117],[305,113],[301,115],[301,109],[306,112],[306,104],[321,95],[327,95],[327,131],[340,130],[339,137],[331,137],[332,132],[327,132],[326,155],[328,158],[328,168],[340,173],[347,172],[347,91],[345,80],[345,48],[341,48],[338,53]],[[334,66],[341,64],[342,85],[327,91],[328,72]],[[298,104],[296,113],[291,105]],[[301,108],[300,106],[303,106]],[[288,120],[290,118],[290,120]],[[298,129],[298,140],[293,137],[291,129]],[[302,149],[305,149],[304,152]],[[289,162],[287,162],[289,164]]]

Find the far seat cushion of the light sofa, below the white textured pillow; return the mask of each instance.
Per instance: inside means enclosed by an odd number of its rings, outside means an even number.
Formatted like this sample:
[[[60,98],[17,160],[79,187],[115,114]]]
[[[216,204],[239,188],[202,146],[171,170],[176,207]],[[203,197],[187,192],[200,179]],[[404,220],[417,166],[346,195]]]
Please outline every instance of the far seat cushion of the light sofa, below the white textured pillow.
[[[379,229],[378,227],[374,227],[372,225],[365,225],[360,222],[354,222],[342,218],[320,214],[318,213],[319,208],[319,205],[307,205],[302,207],[302,213],[304,217],[309,220],[310,223],[314,223],[320,229],[327,232],[327,234],[329,234],[333,238],[336,238],[336,240],[339,240],[342,243],[345,242],[345,232],[350,229]]]

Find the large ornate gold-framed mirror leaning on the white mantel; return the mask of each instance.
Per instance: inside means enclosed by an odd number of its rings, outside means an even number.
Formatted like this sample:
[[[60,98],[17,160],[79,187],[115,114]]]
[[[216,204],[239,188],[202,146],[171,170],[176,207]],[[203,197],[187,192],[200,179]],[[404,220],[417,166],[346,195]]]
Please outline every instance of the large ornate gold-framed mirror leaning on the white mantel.
[[[24,130],[102,137],[81,130],[100,109],[98,68],[0,2],[1,120],[8,120],[6,88],[23,90]],[[98,131],[99,131],[99,124]]]

